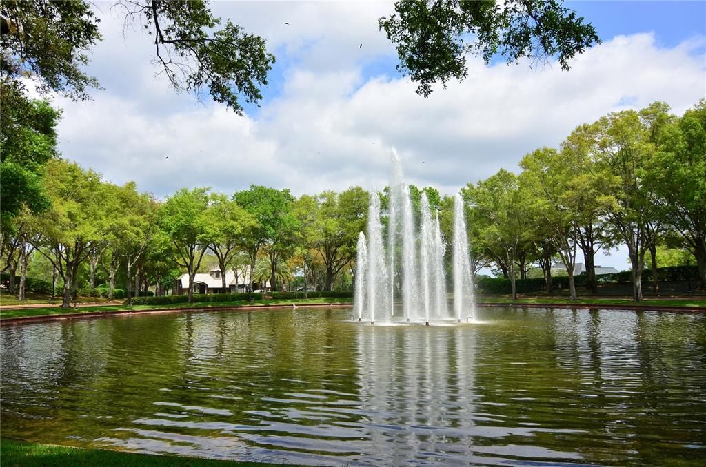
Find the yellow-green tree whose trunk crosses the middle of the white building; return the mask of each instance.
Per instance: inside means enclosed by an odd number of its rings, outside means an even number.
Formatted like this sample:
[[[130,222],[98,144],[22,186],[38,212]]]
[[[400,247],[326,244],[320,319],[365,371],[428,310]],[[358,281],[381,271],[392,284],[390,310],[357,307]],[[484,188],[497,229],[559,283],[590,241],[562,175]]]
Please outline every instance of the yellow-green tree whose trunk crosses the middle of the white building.
[[[242,243],[243,233],[249,226],[254,224],[254,221],[251,215],[240,207],[237,202],[229,200],[222,193],[213,193],[211,195],[208,215],[213,228],[213,237],[208,244],[208,249],[213,252],[218,260],[222,281],[221,291],[226,293],[226,271],[238,253],[237,247]]]

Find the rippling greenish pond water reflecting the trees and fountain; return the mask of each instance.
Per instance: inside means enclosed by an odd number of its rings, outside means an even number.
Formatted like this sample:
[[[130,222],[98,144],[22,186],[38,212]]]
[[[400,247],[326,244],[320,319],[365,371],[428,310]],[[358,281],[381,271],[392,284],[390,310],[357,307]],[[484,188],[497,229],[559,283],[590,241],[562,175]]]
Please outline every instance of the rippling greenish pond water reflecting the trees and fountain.
[[[706,458],[706,315],[480,310],[371,327],[345,308],[0,330],[2,435],[322,465]]]

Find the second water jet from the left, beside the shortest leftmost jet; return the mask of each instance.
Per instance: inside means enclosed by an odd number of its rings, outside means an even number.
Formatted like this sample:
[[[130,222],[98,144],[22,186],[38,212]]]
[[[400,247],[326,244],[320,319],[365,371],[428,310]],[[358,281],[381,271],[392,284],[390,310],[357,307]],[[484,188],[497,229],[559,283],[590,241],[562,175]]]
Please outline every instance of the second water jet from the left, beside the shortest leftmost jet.
[[[387,265],[383,245],[383,226],[380,222],[380,197],[375,191],[371,195],[368,214],[368,310],[370,322],[390,320],[388,301]]]

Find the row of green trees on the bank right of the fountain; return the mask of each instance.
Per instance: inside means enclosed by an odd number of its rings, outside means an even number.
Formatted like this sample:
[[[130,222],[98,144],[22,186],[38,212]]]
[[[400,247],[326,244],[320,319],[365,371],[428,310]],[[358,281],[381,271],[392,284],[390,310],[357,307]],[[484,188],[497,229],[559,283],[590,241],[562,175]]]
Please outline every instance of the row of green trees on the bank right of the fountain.
[[[664,102],[611,113],[576,128],[558,149],[527,154],[520,167],[462,190],[475,255],[502,270],[513,296],[515,277],[532,263],[551,289],[558,257],[575,298],[579,250],[596,291],[594,255],[619,244],[628,248],[635,301],[647,253],[657,274],[658,245],[688,250],[706,286],[706,100],[681,117]]]

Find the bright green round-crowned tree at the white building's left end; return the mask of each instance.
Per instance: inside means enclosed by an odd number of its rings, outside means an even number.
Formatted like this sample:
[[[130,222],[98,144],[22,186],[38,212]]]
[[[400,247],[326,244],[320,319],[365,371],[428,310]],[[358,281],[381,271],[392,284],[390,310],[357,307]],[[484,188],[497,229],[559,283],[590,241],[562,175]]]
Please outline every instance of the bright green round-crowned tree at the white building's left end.
[[[215,236],[208,203],[208,188],[181,188],[157,214],[162,241],[169,245],[167,255],[189,274],[189,303],[193,301],[193,278]]]

